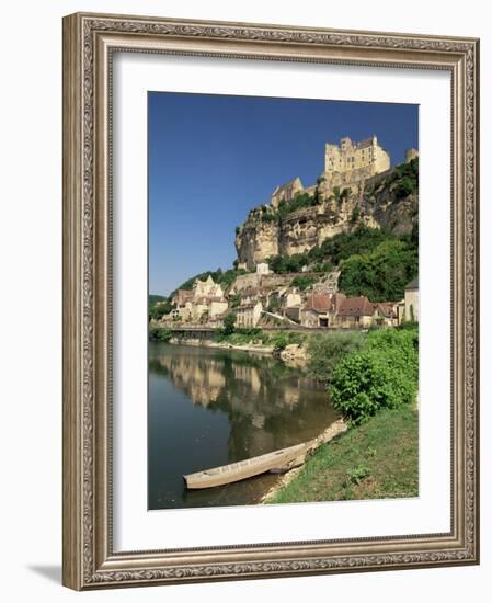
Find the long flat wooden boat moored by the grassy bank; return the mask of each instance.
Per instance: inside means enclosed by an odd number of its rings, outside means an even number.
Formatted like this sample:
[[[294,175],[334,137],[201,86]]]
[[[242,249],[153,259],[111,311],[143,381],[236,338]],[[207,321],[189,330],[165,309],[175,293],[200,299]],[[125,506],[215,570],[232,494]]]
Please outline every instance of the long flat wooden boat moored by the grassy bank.
[[[240,481],[267,471],[287,471],[293,467],[302,465],[306,454],[317,445],[316,440],[296,444],[288,448],[282,448],[230,465],[214,467],[205,471],[188,474],[183,476],[186,488],[190,490],[198,488],[214,488],[215,486],[225,486],[233,481]]]

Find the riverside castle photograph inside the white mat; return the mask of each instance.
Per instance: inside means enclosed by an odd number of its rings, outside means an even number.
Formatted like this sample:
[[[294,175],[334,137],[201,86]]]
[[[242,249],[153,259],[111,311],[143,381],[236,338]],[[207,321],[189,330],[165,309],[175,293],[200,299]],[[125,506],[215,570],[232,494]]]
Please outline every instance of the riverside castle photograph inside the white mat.
[[[419,105],[147,107],[148,510],[419,497]]]

